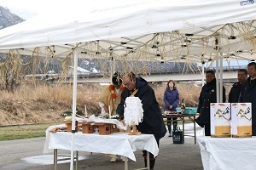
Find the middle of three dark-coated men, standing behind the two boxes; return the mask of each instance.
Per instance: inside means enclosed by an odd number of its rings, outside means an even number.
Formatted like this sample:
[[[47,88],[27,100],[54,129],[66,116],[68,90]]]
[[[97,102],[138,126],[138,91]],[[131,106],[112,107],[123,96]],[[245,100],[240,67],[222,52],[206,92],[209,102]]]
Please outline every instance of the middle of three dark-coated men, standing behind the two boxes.
[[[238,103],[240,92],[241,92],[241,84],[247,80],[247,70],[246,69],[240,69],[237,72],[237,79],[238,82],[235,82],[230,89],[229,94],[229,103]]]

